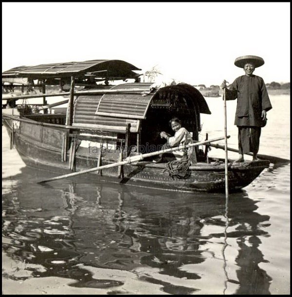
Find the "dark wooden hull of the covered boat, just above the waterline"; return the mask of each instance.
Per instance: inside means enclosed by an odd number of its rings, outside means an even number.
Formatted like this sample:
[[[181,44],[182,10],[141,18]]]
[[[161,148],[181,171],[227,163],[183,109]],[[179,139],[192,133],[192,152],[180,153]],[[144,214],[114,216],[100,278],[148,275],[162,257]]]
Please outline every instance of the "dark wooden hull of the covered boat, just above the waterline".
[[[9,126],[7,126],[7,130],[9,132]],[[54,172],[56,175],[72,172],[69,169],[69,152],[66,161],[62,161],[60,147],[36,139],[37,137],[32,137],[32,135],[28,137],[27,134],[23,135],[18,130],[14,133],[14,146],[26,165]],[[117,159],[102,158],[101,165],[117,161]],[[82,171],[94,167],[97,167],[97,156],[90,154],[84,148],[79,148],[75,154],[74,170]],[[236,191],[247,186],[268,167],[269,161],[267,160],[242,163],[230,162],[228,164],[229,191]],[[180,179],[171,177],[165,170],[165,164],[142,161],[123,165],[122,171],[121,168],[112,167],[101,172],[79,175],[74,179],[85,178],[90,182],[98,179],[113,183],[176,191],[225,191],[225,166],[223,161],[212,162],[211,164],[198,163],[192,165],[190,170],[191,175],[189,178]],[[121,176],[118,177],[119,175]]]

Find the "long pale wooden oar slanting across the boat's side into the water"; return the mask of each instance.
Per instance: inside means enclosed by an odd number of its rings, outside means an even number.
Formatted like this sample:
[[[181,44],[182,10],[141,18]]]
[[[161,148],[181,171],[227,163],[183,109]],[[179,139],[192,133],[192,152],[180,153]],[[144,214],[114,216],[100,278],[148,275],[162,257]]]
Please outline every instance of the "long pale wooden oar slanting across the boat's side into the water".
[[[230,136],[227,136],[227,137],[229,138]],[[195,142],[195,143],[191,143],[191,144],[187,144],[187,145],[180,145],[180,146],[177,146],[177,147],[173,147],[173,148],[169,148],[169,149],[165,149],[165,150],[161,150],[161,151],[157,151],[157,152],[152,152],[152,153],[147,153],[147,154],[140,154],[138,156],[127,157],[124,161],[120,161],[120,162],[116,162],[116,163],[112,163],[112,164],[108,164],[108,165],[103,165],[103,166],[99,166],[99,167],[94,167],[94,168],[91,168],[91,169],[82,170],[82,171],[78,171],[78,172],[73,172],[73,173],[65,174],[65,175],[62,175],[62,176],[55,177],[55,178],[45,179],[45,180],[39,181],[38,183],[44,183],[44,182],[48,182],[48,181],[52,181],[52,180],[56,180],[56,179],[62,179],[62,178],[69,178],[69,177],[89,173],[89,172],[92,172],[92,171],[107,169],[107,168],[116,167],[116,166],[125,165],[125,164],[131,164],[133,162],[142,161],[144,158],[157,156],[157,155],[160,155],[160,154],[163,154],[163,153],[178,151],[178,150],[181,150],[181,149],[184,149],[184,148],[189,148],[189,147],[192,147],[192,146],[207,144],[207,143],[211,143],[211,142],[214,142],[214,141],[219,141],[219,140],[222,140],[222,139],[224,139],[224,137],[205,140],[205,141],[201,141],[201,142]]]

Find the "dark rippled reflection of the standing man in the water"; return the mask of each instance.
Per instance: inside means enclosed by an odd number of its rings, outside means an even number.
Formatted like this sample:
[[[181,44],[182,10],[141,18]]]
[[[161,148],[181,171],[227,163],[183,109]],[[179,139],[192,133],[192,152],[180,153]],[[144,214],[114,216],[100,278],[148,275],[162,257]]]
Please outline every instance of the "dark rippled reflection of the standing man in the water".
[[[227,215],[233,225],[238,224],[236,231],[228,232],[227,229],[226,233],[226,243],[228,243],[228,237],[237,238],[239,247],[238,256],[235,258],[237,266],[240,267],[236,270],[238,281],[227,279],[229,282],[238,284],[235,294],[270,294],[272,278],[258,266],[261,262],[268,262],[259,250],[261,243],[259,237],[269,236],[262,230],[265,226],[262,223],[268,221],[270,217],[258,214],[255,212],[256,209],[256,202],[252,199],[246,200],[246,203],[241,205],[232,199],[229,203]]]

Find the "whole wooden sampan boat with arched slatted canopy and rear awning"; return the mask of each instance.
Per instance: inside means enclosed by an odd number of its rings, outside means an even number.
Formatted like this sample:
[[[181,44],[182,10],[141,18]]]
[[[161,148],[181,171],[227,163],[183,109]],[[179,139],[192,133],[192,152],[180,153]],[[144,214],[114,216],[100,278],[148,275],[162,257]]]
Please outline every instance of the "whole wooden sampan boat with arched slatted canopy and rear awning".
[[[164,142],[159,132],[173,133],[168,126],[173,116],[182,119],[183,127],[198,140],[200,114],[211,114],[201,93],[185,83],[152,88],[152,83],[140,82],[140,75],[133,70],[140,69],[121,60],[92,60],[22,66],[3,72],[2,85],[7,81],[16,86],[21,79],[23,86],[26,79],[27,86],[32,88],[37,79],[42,90],[37,95],[10,97],[8,103],[44,98],[44,106],[39,108],[44,110],[43,114],[22,111],[11,115],[9,111],[14,109],[2,110],[2,124],[11,137],[11,147],[16,147],[28,166],[63,174],[158,150]],[[120,79],[134,82],[109,85],[110,80]],[[105,84],[97,84],[98,81]],[[64,89],[66,83],[70,83],[69,92],[45,94],[46,86],[60,85]],[[77,86],[84,88],[76,91]],[[45,112],[45,97],[53,95],[69,95],[66,113]],[[94,171],[86,178],[179,191],[224,191],[224,160],[208,158],[207,152],[207,148],[196,147],[198,163],[191,164],[186,178],[170,175],[166,163],[153,163],[151,159]],[[229,190],[250,184],[269,163],[230,160]]]

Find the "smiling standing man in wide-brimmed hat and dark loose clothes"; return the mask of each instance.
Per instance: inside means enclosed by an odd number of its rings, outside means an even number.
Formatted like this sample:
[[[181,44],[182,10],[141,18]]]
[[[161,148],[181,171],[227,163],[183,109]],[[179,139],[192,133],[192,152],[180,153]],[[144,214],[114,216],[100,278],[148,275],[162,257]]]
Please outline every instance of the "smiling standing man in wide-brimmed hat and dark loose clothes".
[[[245,75],[235,79],[229,88],[224,80],[221,88],[226,88],[226,100],[237,99],[234,124],[238,127],[239,158],[235,162],[243,162],[243,155],[249,152],[256,161],[261,127],[265,125],[267,111],[272,109],[264,80],[253,74],[264,60],[257,56],[243,56],[235,59],[234,64],[243,68]]]

